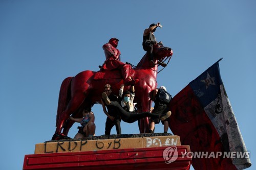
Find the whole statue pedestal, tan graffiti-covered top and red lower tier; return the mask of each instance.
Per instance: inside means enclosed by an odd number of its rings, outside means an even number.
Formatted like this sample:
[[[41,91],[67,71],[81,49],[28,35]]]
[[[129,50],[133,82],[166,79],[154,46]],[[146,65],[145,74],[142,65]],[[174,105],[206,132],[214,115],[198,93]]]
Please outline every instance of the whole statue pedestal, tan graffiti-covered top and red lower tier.
[[[183,156],[189,151],[179,136],[164,133],[46,141],[25,155],[23,169],[189,169],[191,158]]]

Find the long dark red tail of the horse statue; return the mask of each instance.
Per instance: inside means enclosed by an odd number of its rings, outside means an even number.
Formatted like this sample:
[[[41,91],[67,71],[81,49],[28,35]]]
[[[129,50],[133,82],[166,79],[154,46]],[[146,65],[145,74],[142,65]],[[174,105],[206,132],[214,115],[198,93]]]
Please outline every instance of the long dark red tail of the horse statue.
[[[61,83],[59,90],[59,101],[58,101],[58,109],[56,116],[56,127],[58,124],[59,116],[61,116],[62,112],[66,109],[70,99],[71,99],[71,81],[73,77],[68,77]]]

